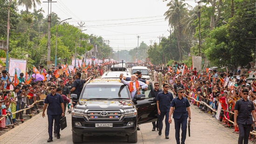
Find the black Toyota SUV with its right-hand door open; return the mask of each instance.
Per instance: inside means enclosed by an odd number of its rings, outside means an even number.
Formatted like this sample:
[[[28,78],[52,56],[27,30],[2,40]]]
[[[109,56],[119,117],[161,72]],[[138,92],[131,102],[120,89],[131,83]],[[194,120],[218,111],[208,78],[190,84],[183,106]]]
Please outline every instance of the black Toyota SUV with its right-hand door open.
[[[128,86],[119,78],[89,80],[72,110],[73,143],[83,143],[83,136],[88,135],[127,136],[127,142],[136,143],[137,124],[157,120],[152,90],[150,83],[132,100]]]

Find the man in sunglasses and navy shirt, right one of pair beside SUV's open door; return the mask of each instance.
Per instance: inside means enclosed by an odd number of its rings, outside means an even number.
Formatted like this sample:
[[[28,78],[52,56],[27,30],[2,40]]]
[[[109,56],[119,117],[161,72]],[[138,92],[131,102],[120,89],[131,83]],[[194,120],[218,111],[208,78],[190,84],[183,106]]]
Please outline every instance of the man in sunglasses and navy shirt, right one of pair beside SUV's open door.
[[[181,125],[181,144],[185,144],[187,135],[187,117],[188,122],[191,120],[190,104],[186,97],[183,96],[184,89],[177,89],[178,96],[171,103],[169,113],[169,123],[172,123],[172,114],[175,124],[175,138],[177,144],[180,144],[180,125]]]

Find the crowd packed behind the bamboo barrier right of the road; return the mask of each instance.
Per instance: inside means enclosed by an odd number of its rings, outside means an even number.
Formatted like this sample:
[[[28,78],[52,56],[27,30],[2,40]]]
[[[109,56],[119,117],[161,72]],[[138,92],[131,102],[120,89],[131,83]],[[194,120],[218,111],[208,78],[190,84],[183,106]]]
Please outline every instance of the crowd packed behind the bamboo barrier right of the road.
[[[255,80],[247,82],[246,75],[249,72],[251,71],[243,67],[239,70],[233,69],[225,72],[217,71],[217,69],[198,72],[196,68],[187,69],[184,63],[174,62],[166,69],[163,67],[152,68],[151,78],[159,86],[168,83],[171,87],[170,91],[175,96],[178,96],[177,89],[185,89],[183,96],[187,97],[191,104],[212,114],[222,122],[224,127],[233,128],[234,133],[239,134],[239,144],[243,144],[242,142],[247,144],[248,139],[256,142],[256,133],[249,133],[256,130],[253,123],[256,121],[254,117],[256,82]],[[159,89],[164,88],[159,87]],[[239,100],[243,102],[248,100],[248,102],[252,102],[252,105],[247,103],[249,108],[235,106]],[[241,112],[244,109],[245,111]],[[246,113],[246,115],[244,116],[242,113]],[[238,123],[238,119],[241,118],[242,123],[241,120]],[[248,119],[248,121],[245,123],[244,119]],[[153,124],[153,130],[155,128],[156,126]]]

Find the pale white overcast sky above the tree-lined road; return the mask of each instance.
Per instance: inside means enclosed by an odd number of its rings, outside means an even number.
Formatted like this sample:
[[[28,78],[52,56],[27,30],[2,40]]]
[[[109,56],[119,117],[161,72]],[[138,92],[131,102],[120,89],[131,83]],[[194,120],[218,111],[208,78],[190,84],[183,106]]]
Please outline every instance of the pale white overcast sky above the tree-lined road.
[[[47,0],[41,0],[47,1]],[[58,14],[61,21],[67,18],[69,24],[79,26],[84,23],[86,34],[102,36],[110,41],[115,51],[136,48],[138,42],[144,41],[148,46],[150,40],[159,43],[159,37],[170,33],[164,13],[170,1],[163,0],[53,0],[52,12]],[[194,0],[186,0],[192,6]],[[42,2],[36,9],[43,8],[48,13],[48,3]],[[19,10],[25,10],[20,7]],[[30,10],[32,11],[32,10]],[[137,36],[140,36],[139,39]],[[153,44],[152,42],[152,44]]]

